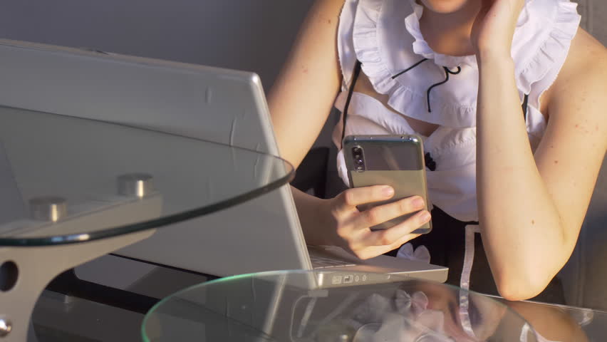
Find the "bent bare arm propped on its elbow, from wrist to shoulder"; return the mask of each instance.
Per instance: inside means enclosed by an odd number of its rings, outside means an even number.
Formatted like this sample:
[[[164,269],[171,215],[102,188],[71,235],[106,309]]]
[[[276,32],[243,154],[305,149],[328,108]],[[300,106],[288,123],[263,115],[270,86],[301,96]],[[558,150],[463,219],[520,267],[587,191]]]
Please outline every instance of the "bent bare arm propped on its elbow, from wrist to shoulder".
[[[479,56],[479,220],[497,287],[511,300],[539,294],[569,259],[607,149],[607,53],[581,30],[571,51],[593,54],[592,63],[570,52],[535,155],[512,58]]]

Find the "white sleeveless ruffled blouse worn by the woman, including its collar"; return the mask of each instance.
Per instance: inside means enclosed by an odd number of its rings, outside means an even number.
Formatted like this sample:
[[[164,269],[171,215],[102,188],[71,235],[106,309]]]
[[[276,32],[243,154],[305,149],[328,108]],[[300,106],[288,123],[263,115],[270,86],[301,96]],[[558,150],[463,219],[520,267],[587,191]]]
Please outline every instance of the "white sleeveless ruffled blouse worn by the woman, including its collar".
[[[569,0],[526,0],[519,16],[512,57],[521,100],[529,95],[526,128],[533,150],[546,128],[540,97],[563,66],[580,16]],[[346,0],[338,28],[338,53],[343,73],[336,108],[343,110],[356,60],[380,94],[388,95],[389,110],[380,101],[353,93],[348,108],[346,135],[415,133],[405,117],[439,127],[424,140],[425,152],[436,162],[427,170],[429,200],[461,221],[478,221],[476,196],[476,106],[478,67],[475,56],[435,53],[420,31],[423,7],[415,0]],[[419,66],[392,76],[421,61]],[[445,80],[445,70],[461,72],[432,89],[428,110],[427,89]],[[518,113],[517,113],[518,114]],[[522,115],[522,113],[520,113]],[[341,120],[333,142],[341,147]],[[348,184],[343,153],[339,173]]]

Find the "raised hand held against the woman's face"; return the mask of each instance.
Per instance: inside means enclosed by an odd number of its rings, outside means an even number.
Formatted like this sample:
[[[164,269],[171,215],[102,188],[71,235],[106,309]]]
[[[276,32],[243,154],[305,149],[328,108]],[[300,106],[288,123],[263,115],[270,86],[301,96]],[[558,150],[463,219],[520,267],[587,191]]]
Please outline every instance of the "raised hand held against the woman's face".
[[[472,26],[472,46],[481,57],[486,53],[511,56],[512,37],[525,0],[481,0]]]

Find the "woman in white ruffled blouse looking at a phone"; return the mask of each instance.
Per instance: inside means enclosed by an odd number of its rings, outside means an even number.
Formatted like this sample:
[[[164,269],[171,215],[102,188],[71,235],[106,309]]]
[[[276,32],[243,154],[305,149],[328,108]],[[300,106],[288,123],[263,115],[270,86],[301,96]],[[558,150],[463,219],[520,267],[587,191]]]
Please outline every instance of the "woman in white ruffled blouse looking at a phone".
[[[510,300],[554,285],[607,149],[607,53],[579,20],[569,0],[316,0],[269,94],[281,155],[297,167],[335,103],[346,135],[427,137],[435,209],[418,238],[425,211],[369,227],[415,212],[419,197],[359,212],[393,190],[294,190],[306,242],[362,259],[424,244],[449,282],[467,287],[472,273],[471,289]],[[339,147],[341,127],[334,137]]]

